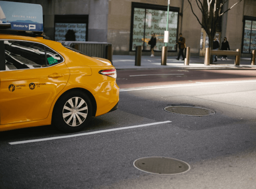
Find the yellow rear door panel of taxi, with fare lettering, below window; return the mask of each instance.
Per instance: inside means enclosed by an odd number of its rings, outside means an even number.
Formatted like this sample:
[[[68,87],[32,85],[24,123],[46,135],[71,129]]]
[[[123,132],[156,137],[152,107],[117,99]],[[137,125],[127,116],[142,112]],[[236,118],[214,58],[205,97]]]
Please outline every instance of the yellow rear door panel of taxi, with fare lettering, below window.
[[[63,76],[51,78],[49,73]],[[1,125],[46,119],[68,78],[65,63],[55,67],[0,72]]]

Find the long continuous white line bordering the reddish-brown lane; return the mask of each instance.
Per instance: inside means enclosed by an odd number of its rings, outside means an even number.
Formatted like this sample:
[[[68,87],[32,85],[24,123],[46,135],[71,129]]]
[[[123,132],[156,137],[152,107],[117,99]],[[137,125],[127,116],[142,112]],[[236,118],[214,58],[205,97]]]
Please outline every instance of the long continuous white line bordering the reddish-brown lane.
[[[147,90],[147,89],[164,89],[164,88],[174,88],[174,87],[191,87],[191,86],[199,86],[199,85],[216,85],[216,84],[232,84],[232,83],[250,83],[256,82],[256,80],[245,80],[245,81],[223,81],[223,82],[205,82],[205,83],[193,83],[193,84],[178,84],[178,85],[161,85],[156,87],[141,87],[141,88],[128,88],[128,89],[120,89],[120,92],[125,91],[139,91],[139,90]]]

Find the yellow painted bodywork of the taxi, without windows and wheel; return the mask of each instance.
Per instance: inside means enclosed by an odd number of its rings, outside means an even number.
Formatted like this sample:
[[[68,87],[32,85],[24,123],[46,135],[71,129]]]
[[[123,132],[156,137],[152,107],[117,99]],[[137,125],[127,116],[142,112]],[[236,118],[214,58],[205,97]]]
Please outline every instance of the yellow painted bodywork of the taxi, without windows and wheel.
[[[41,43],[60,54],[64,62],[0,71],[0,131],[51,124],[55,103],[73,89],[86,90],[94,97],[94,116],[109,112],[119,101],[116,79],[99,74],[114,69],[108,60],[82,55],[42,37],[0,34],[2,40]]]

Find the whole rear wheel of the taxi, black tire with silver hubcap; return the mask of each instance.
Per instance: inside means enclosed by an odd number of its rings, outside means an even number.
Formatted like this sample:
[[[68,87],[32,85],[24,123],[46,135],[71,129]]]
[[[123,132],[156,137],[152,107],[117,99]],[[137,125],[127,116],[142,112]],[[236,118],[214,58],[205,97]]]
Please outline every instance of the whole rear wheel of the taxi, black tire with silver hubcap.
[[[54,107],[52,123],[64,132],[77,132],[85,128],[92,117],[90,98],[81,91],[67,92]]]

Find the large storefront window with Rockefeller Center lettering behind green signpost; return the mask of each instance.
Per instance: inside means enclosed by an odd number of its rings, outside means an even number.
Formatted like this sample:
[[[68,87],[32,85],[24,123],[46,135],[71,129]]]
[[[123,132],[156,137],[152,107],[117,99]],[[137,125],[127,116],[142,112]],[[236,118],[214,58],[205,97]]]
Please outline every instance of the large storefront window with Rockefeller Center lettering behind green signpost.
[[[144,7],[146,6],[147,5],[144,4]],[[155,51],[161,51],[162,46],[165,46],[164,31],[166,30],[167,25],[167,11],[161,10],[163,7],[159,8],[159,10],[139,7],[140,6],[133,8],[133,30],[131,31],[132,45],[130,50],[134,51],[138,45],[142,45],[143,50],[150,50],[148,41],[150,40],[151,35],[155,33],[157,44],[154,49]],[[155,7],[157,6],[154,5],[154,8]],[[169,42],[167,43],[167,49],[169,51],[176,51],[178,12],[179,11],[169,11]]]

